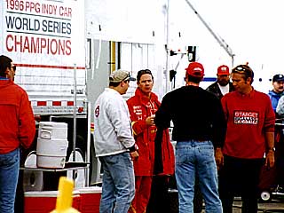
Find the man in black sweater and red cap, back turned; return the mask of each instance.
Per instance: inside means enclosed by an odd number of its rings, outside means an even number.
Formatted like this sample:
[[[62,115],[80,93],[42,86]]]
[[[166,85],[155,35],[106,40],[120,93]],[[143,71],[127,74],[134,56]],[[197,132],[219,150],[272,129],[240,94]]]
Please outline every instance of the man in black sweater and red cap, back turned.
[[[186,85],[165,95],[155,124],[164,129],[170,127],[170,121],[174,124],[179,213],[193,212],[195,177],[200,182],[205,212],[221,213],[214,150],[225,141],[225,115],[220,99],[199,86],[204,76],[201,63],[192,62],[185,70]]]

